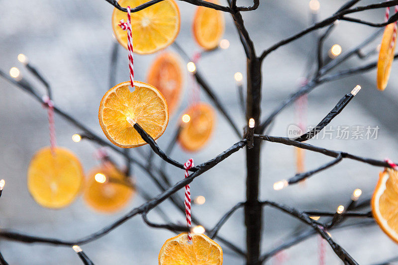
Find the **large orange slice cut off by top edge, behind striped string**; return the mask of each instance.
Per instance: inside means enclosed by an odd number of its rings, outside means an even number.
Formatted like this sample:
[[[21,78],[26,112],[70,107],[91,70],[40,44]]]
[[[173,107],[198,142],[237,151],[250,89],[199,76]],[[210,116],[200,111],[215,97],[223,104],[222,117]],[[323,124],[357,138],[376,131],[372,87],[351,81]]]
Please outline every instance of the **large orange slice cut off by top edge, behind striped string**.
[[[136,7],[147,0],[120,0],[123,7]],[[127,49],[127,32],[118,24],[127,20],[127,13],[114,8],[112,29],[117,41]],[[176,39],[180,31],[180,10],[174,0],[163,0],[138,12],[131,13],[133,50],[138,54],[149,54],[166,48]]]

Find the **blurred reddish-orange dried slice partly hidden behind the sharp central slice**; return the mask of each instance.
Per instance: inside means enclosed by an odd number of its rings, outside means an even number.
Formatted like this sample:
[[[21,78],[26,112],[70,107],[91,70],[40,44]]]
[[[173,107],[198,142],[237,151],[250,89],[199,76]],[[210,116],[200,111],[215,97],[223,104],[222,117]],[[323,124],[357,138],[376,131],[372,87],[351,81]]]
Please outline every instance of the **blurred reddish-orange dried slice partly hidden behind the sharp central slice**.
[[[148,71],[147,82],[162,92],[170,114],[173,113],[179,105],[183,87],[183,74],[178,56],[167,52],[156,57]]]

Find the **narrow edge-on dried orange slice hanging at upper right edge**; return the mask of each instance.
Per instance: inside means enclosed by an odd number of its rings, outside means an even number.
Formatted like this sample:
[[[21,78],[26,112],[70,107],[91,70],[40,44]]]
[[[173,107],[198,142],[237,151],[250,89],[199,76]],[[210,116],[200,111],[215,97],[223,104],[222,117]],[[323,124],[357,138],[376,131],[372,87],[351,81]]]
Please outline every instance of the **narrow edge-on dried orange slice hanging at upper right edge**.
[[[377,88],[379,90],[384,90],[389,82],[391,66],[394,61],[394,51],[397,45],[397,38],[394,39],[393,37],[395,27],[395,23],[388,24],[383,33],[379,60],[377,61]]]

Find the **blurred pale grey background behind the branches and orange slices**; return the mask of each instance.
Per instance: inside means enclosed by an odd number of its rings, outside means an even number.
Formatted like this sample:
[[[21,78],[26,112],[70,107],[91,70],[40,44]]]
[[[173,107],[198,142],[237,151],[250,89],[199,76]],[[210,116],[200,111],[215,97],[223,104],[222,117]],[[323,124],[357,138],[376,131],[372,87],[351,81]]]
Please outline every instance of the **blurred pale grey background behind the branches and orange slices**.
[[[249,0],[238,0],[238,4],[250,4]],[[275,42],[291,36],[306,27],[310,21],[307,0],[260,1],[260,7],[253,12],[243,13],[245,24],[260,53]],[[320,0],[319,17],[325,18],[338,9],[343,0]],[[360,5],[375,1],[363,0]],[[191,23],[196,6],[178,1],[181,10],[181,32],[177,42],[192,55],[199,51],[191,32]],[[226,1],[222,1],[226,4]],[[57,106],[77,117],[95,132],[103,135],[98,123],[98,106],[104,92],[109,89],[108,73],[111,47],[113,45],[110,17],[113,7],[104,0],[0,0],[0,69],[8,72],[12,66],[21,69],[23,76],[33,84],[35,80],[17,62],[19,53],[24,53],[37,66],[53,87]],[[384,9],[367,11],[358,17],[365,20],[383,21]],[[233,21],[228,14],[225,38],[230,41],[227,50],[219,50],[204,57],[198,67],[228,111],[239,124],[244,119],[237,104],[238,97],[233,79],[235,72],[245,73],[245,56],[239,42]],[[340,22],[325,43],[325,53],[338,43],[343,52],[364,40],[375,31],[364,25]],[[370,48],[380,42],[379,37]],[[283,46],[266,58],[263,64],[263,116],[288,94],[297,89],[308,52],[313,50],[311,35]],[[169,48],[169,50],[173,50]],[[314,52],[314,50],[313,50]],[[127,51],[119,50],[116,83],[128,79]],[[147,69],[155,55],[135,55],[136,80],[145,81]],[[373,56],[369,60],[376,60]],[[353,58],[342,65],[345,67],[366,64]],[[185,65],[182,65],[185,70]],[[393,65],[388,88],[376,90],[376,71],[345,78],[316,88],[308,98],[308,124],[314,125],[357,84],[361,92],[344,111],[333,120],[332,126],[379,126],[376,140],[313,139],[310,143],[325,148],[351,152],[376,159],[389,157],[398,160],[396,152],[398,108],[398,70]],[[245,76],[245,74],[244,74]],[[176,114],[171,118],[166,133],[158,140],[165,148],[176,128],[179,115],[188,105],[190,83],[186,75],[185,96]],[[37,86],[42,89],[41,86]],[[44,89],[41,90],[44,93]],[[26,187],[26,170],[31,156],[41,147],[49,145],[46,110],[30,95],[0,79],[0,178],[6,180],[6,187],[0,200],[0,228],[10,228],[32,235],[41,235],[68,240],[78,239],[109,224],[129,209],[144,200],[136,195],[128,207],[114,215],[103,215],[88,208],[81,198],[62,210],[45,209],[37,205]],[[207,101],[204,94],[201,99]],[[59,116],[55,117],[57,141],[75,152],[88,172],[98,165],[93,154],[97,146],[88,141],[72,142],[71,136],[80,131]],[[281,113],[273,125],[271,135],[286,136],[287,127],[297,122],[295,108],[289,107]],[[180,162],[193,158],[196,164],[207,161],[225,150],[238,139],[225,119],[217,115],[217,126],[213,137],[203,150],[188,154],[177,147],[173,157]],[[140,147],[148,153],[148,147]],[[122,159],[109,151],[119,163]],[[137,159],[137,151],[132,151]],[[245,164],[244,151],[240,151],[217,167],[198,177],[191,185],[193,197],[203,195],[204,205],[194,205],[193,214],[211,227],[220,216],[235,203],[244,200]],[[155,160],[156,163],[160,161]],[[330,158],[306,152],[306,169],[310,170],[330,161]],[[145,161],[144,161],[145,162]],[[134,168],[134,176],[140,186],[156,195],[160,191],[141,171]],[[363,198],[372,194],[381,169],[344,160],[332,169],[313,176],[303,185],[295,185],[275,191],[272,184],[295,174],[295,153],[292,147],[266,143],[263,146],[261,172],[261,198],[270,199],[302,210],[334,211],[339,204],[346,203],[355,188],[361,188]],[[184,177],[182,170],[168,169],[173,182]],[[220,188],[222,187],[222,188]],[[183,204],[183,193],[181,203]],[[165,201],[161,207],[172,220],[184,223],[185,217]],[[161,219],[155,211],[149,214],[154,222]],[[357,220],[360,221],[360,220]],[[303,226],[297,220],[275,210],[264,211],[263,251],[272,249],[289,236],[296,228]],[[220,230],[220,235],[233,243],[245,247],[243,211],[237,211]],[[359,264],[372,264],[397,255],[398,247],[378,226],[331,231],[335,239]],[[137,216],[99,240],[82,248],[95,264],[157,264],[159,250],[166,239],[173,236],[169,231],[156,230],[146,226]],[[48,245],[28,245],[0,241],[1,253],[12,265],[80,264],[71,248]],[[224,249],[224,264],[243,264],[243,260]],[[267,264],[317,264],[318,238],[311,237],[299,245],[286,250],[283,262],[271,259]],[[326,264],[341,264],[326,244]]]

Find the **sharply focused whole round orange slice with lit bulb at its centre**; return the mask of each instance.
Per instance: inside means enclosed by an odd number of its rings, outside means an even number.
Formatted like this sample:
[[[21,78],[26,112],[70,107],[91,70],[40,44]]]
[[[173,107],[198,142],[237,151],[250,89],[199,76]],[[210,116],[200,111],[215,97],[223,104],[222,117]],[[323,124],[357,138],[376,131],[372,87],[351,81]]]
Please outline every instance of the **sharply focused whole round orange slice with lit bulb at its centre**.
[[[98,113],[105,136],[123,148],[146,144],[131,123],[138,123],[156,140],[169,122],[166,99],[158,89],[134,81],[134,91],[130,92],[129,85],[128,81],[110,88],[102,97]]]

